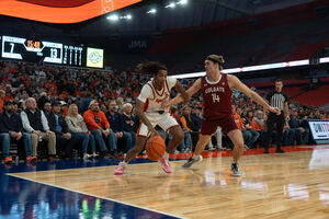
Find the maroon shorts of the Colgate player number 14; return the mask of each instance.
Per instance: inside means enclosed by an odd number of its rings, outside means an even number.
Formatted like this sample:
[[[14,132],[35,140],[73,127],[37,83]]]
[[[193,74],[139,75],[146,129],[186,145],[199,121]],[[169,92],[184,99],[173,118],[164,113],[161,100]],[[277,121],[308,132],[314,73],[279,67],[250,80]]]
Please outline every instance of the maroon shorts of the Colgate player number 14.
[[[224,118],[219,118],[215,120],[207,120],[204,118],[202,120],[201,134],[211,136],[216,131],[218,126],[222,127],[222,130],[225,134],[228,134],[229,131],[235,129],[239,129],[238,125],[236,124],[234,115],[227,115]]]

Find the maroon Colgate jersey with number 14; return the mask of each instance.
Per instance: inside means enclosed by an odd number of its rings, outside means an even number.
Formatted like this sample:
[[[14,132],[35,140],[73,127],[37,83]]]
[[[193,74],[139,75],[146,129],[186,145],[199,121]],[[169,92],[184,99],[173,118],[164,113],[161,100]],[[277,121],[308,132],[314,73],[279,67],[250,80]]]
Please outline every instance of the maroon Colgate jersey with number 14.
[[[217,82],[208,81],[206,76],[202,77],[201,91],[204,119],[214,120],[232,115],[231,89],[228,85],[226,73],[220,73]]]

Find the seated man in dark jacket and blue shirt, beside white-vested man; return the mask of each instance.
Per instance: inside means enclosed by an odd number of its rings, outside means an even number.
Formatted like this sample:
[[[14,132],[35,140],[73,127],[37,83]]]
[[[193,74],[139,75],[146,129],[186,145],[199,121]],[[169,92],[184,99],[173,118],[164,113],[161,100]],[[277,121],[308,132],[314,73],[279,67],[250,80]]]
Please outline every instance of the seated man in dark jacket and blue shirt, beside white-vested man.
[[[77,136],[71,135],[69,132],[67,123],[65,122],[64,116],[60,114],[60,102],[54,101],[52,103],[53,111],[48,113],[47,119],[49,124],[49,128],[56,135],[56,143],[59,150],[60,158],[71,158],[72,157],[72,149],[75,145],[81,141],[89,141],[87,136]]]

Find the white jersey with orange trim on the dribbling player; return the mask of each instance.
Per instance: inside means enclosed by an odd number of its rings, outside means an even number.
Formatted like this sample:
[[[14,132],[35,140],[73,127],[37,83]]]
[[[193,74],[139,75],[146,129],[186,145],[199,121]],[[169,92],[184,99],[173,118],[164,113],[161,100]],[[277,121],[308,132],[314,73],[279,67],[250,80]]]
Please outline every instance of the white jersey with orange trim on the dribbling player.
[[[161,108],[161,103],[163,101],[169,101],[170,91],[175,85],[177,79],[173,77],[167,77],[161,91],[157,91],[154,85],[154,80],[148,81],[140,91],[138,100],[144,103],[143,112],[152,114],[163,111]],[[168,112],[169,110],[166,110]]]

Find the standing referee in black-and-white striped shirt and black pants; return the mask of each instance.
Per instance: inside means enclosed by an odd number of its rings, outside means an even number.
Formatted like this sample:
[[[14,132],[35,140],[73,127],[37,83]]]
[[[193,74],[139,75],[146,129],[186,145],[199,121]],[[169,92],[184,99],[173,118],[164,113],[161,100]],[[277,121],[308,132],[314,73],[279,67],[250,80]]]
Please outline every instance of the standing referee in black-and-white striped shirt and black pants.
[[[269,145],[271,142],[274,124],[276,124],[276,153],[284,153],[284,150],[281,149],[283,127],[285,124],[285,119],[288,120],[290,116],[288,116],[288,99],[282,92],[282,88],[283,88],[283,82],[282,80],[277,79],[275,81],[275,91],[270,92],[266,96],[266,102],[270,104],[270,106],[280,108],[281,114],[277,115],[270,112],[268,116],[266,119],[268,131],[265,137],[264,153],[269,153]]]

